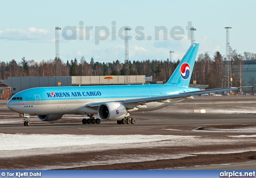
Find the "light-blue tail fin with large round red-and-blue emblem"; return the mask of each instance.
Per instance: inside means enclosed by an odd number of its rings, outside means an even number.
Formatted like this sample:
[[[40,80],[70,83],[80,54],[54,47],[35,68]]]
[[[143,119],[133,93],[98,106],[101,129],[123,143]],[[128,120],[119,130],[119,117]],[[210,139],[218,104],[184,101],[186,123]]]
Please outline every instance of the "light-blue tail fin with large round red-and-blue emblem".
[[[193,43],[182,60],[180,64],[173,72],[172,76],[166,83],[167,85],[174,86],[189,86],[190,78],[196,61],[196,54],[198,51],[199,44]]]

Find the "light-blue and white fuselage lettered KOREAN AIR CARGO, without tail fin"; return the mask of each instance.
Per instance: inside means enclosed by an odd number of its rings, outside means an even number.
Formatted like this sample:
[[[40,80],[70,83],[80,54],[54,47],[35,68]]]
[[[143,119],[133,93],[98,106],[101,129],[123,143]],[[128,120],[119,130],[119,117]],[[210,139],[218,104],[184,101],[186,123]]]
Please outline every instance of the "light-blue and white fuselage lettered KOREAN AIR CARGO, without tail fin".
[[[18,113],[30,115],[48,114],[96,114],[95,108],[87,104],[101,102],[121,102],[128,99],[167,96],[182,92],[198,91],[197,88],[163,85],[117,85],[117,86],[70,86],[31,88],[15,94],[7,106]],[[168,103],[149,102],[146,108],[134,107],[138,104],[122,104],[129,111],[152,111],[175,104],[183,98]]]

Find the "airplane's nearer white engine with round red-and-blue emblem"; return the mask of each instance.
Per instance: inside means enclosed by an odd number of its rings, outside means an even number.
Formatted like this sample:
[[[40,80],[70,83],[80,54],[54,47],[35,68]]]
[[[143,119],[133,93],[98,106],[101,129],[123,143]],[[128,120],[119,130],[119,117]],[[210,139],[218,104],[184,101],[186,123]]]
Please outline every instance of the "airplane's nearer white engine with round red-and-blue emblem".
[[[117,102],[109,102],[101,104],[98,108],[98,116],[101,120],[117,121],[123,119],[127,114],[124,105]]]

